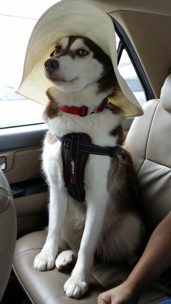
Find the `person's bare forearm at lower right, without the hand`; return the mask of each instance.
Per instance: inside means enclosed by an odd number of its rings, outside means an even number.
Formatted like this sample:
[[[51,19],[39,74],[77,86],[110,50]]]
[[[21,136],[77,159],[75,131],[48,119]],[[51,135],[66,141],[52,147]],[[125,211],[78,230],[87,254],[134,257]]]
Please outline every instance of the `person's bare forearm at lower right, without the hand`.
[[[171,266],[171,212],[155,228],[147,247],[126,282],[135,292]]]

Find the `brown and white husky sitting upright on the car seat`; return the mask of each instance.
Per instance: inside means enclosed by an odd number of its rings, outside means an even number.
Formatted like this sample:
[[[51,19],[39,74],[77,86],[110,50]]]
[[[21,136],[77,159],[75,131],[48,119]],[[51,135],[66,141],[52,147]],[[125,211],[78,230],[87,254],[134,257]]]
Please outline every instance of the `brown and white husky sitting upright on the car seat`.
[[[141,243],[143,223],[138,211],[132,159],[124,147],[122,110],[110,104],[86,117],[62,112],[59,106],[96,108],[112,96],[118,85],[110,57],[82,36],[68,36],[57,44],[45,62],[45,75],[54,85],[47,90],[44,112],[49,127],[43,168],[50,187],[49,228],[46,243],[34,268],[59,271],[75,264],[64,285],[66,295],[82,296],[88,290],[94,255],[103,261],[134,259]],[[87,85],[90,84],[90,85]],[[68,195],[64,182],[61,142],[58,136],[86,133],[92,143],[119,145],[126,159],[89,154],[85,166],[85,202]],[[58,248],[63,248],[58,255]]]

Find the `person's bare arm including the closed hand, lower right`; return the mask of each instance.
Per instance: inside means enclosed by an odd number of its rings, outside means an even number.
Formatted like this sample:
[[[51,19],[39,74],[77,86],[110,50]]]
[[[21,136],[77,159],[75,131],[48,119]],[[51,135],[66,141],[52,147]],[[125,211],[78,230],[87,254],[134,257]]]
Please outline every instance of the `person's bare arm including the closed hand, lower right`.
[[[99,295],[98,304],[137,304],[143,289],[170,266],[171,212],[155,228],[127,280]]]

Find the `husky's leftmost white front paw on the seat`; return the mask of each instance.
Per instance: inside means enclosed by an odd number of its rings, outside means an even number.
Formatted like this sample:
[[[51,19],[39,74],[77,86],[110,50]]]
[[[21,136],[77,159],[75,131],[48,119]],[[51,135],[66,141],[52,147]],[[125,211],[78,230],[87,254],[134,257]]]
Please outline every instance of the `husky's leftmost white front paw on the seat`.
[[[50,270],[54,267],[54,258],[41,251],[35,257],[33,267],[38,271]]]

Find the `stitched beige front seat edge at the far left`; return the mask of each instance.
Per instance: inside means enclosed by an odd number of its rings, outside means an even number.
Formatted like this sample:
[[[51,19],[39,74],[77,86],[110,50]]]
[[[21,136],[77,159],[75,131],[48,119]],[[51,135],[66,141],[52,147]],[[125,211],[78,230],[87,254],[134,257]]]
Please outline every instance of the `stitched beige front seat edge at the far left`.
[[[17,234],[16,222],[12,192],[0,170],[0,302],[12,268]]]

